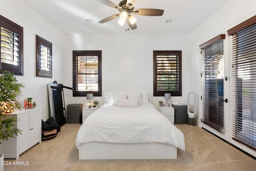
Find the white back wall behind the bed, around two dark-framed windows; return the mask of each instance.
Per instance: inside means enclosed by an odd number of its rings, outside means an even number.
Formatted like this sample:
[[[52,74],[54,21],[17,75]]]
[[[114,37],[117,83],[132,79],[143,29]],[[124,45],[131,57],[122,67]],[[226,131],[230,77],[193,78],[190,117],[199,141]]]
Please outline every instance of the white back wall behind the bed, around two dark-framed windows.
[[[187,36],[171,35],[68,35],[64,56],[64,84],[72,87],[72,51],[102,50],[102,92],[108,90],[145,90],[153,93],[153,51],[182,50],[182,97],[187,101],[188,50]],[[86,97],[72,97],[66,90],[65,103],[86,103]],[[102,104],[102,97],[94,97]],[[153,97],[156,106],[164,97]]]

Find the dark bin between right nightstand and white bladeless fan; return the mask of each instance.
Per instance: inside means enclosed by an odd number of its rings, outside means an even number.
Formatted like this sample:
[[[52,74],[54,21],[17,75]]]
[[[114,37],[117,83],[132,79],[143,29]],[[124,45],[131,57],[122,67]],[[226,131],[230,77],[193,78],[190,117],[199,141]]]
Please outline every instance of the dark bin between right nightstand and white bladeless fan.
[[[174,123],[175,124],[186,124],[188,123],[188,105],[184,105],[184,102],[172,102],[174,107]]]

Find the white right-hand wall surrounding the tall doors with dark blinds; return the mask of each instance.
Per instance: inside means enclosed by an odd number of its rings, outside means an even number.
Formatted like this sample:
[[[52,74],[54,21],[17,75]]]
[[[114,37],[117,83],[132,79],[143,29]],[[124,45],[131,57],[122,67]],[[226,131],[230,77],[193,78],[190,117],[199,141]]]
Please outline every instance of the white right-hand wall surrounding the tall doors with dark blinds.
[[[197,119],[202,118],[201,111],[201,78],[200,78],[200,64],[201,64],[201,55],[199,50],[199,45],[204,42],[218,36],[219,34],[226,34],[226,39],[224,44],[227,44],[225,48],[228,48],[230,44],[229,36],[227,35],[227,30],[240,24],[241,22],[251,18],[256,15],[256,1],[255,0],[230,0],[225,6],[218,10],[214,15],[208,18],[204,23],[202,23],[198,28],[188,35],[188,45],[189,45],[189,54],[190,54],[190,83],[189,91],[194,91],[197,95],[197,107],[199,108]],[[225,43],[226,42],[226,43]],[[230,47],[229,47],[230,48]],[[224,58],[229,58],[229,50],[224,50]],[[228,71],[227,71],[228,72]],[[226,74],[226,73],[224,73]],[[226,76],[226,75],[225,75]],[[225,92],[224,92],[225,93]],[[230,98],[228,98],[230,99]],[[229,113],[226,113],[224,116],[227,119],[229,118]],[[201,126],[201,122],[200,126]],[[229,129],[228,125],[225,125],[226,129]],[[228,135],[228,132],[226,133]],[[228,137],[229,141],[232,142],[230,136]],[[245,150],[246,152],[256,156],[255,151],[248,149],[247,147],[232,142],[237,145],[239,148]]]

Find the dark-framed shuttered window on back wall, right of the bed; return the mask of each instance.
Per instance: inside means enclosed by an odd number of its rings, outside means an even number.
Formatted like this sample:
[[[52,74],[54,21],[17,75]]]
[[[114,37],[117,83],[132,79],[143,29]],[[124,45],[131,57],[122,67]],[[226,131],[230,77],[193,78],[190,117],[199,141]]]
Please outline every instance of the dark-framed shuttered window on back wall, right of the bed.
[[[181,51],[154,51],[154,96],[181,96]]]

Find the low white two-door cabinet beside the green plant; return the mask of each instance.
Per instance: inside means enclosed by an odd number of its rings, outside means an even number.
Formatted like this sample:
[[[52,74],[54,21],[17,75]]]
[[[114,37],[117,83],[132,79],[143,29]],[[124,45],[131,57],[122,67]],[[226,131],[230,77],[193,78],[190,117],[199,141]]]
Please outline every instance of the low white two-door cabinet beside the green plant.
[[[22,130],[22,134],[14,135],[15,138],[9,138],[8,141],[1,141],[1,153],[4,153],[4,158],[18,160],[21,153],[37,143],[41,143],[42,107],[22,109],[12,112],[6,117],[18,118],[18,121],[14,122],[14,128]]]

